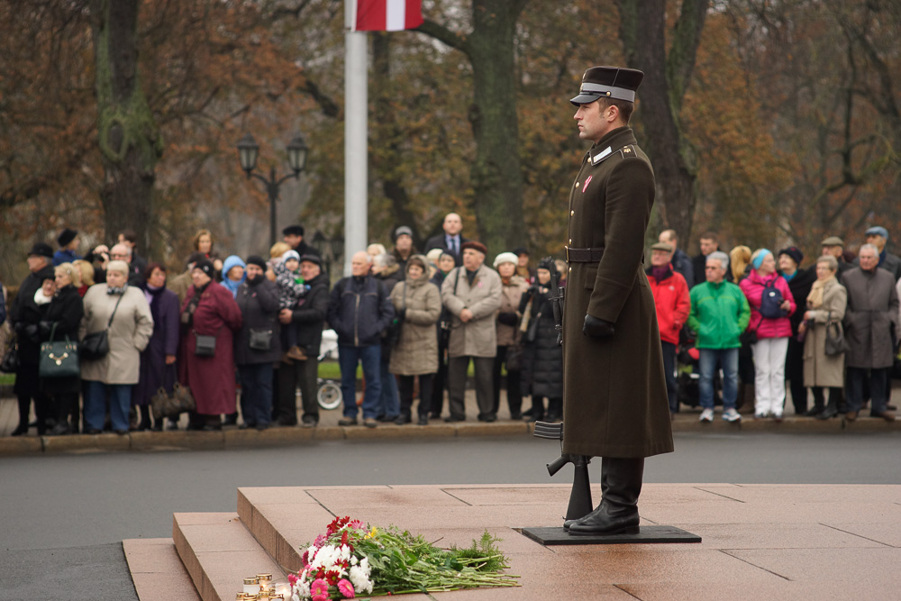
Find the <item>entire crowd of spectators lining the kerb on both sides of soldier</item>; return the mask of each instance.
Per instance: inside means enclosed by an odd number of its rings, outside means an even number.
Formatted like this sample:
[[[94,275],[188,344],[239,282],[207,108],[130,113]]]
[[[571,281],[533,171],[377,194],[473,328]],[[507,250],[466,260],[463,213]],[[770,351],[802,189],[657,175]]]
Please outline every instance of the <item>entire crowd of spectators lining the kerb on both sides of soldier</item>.
[[[466,420],[470,365],[479,421],[496,421],[503,388],[512,419],[560,421],[563,357],[551,299],[566,284],[565,264],[532,268],[521,247],[489,267],[486,246],[462,236],[460,215],[448,214],[442,229],[423,254],[411,228],[397,227],[393,249],[374,243],[355,253],[351,275],[333,287],[300,225],[285,228],[265,259],[222,259],[213,233],[201,230],[185,271],[171,278],[139,256],[133,232],[85,257],[69,229],[55,252],[37,242],[8,314],[0,303],[15,332],[13,435],[32,425],[41,435],[176,429],[177,415],[150,411],[155,398],[175,395],[194,399],[189,429],[314,427],[325,328],[338,339],[341,425],[413,423],[414,405],[420,425]],[[781,420],[787,387],[798,415],[853,421],[869,402],[872,416],[894,420],[901,260],[886,250],[884,228],[865,236],[857,256],[826,238],[805,266],[796,247],[727,254],[714,232],[692,258],[675,232],[662,232],[646,273],[670,413],[680,408],[678,372],[690,363],[701,422],[714,419],[717,389],[726,421],[742,413]],[[82,341],[77,375],[42,371],[47,343],[63,340]]]

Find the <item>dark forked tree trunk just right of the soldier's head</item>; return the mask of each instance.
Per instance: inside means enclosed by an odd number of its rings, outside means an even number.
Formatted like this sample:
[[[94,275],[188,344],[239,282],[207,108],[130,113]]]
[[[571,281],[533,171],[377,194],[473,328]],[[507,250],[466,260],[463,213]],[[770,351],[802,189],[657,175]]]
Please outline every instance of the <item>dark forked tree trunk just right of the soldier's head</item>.
[[[652,135],[639,142],[657,178],[663,223],[676,230],[682,248],[687,248],[691,239],[697,167],[678,115],[695,66],[708,4],[708,0],[683,0],[667,56],[665,0],[619,0],[626,64],[644,71],[636,114],[645,132]]]

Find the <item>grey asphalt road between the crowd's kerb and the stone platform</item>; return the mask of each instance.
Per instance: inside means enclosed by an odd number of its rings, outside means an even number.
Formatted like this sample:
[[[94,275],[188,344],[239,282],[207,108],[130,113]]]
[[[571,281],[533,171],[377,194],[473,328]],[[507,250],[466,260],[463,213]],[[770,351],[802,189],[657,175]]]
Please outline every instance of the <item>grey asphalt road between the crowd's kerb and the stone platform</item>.
[[[544,467],[559,451],[517,436],[0,459],[0,600],[137,599],[121,541],[235,511],[237,487],[567,482]],[[901,484],[898,465],[901,433],[678,433],[645,481]]]

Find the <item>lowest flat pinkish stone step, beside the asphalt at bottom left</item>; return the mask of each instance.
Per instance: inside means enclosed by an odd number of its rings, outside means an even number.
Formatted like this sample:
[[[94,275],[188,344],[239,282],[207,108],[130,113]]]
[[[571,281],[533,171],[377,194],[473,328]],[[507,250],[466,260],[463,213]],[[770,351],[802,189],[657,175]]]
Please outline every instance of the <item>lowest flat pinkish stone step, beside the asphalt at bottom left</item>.
[[[140,601],[200,601],[172,539],[128,539],[122,546]]]

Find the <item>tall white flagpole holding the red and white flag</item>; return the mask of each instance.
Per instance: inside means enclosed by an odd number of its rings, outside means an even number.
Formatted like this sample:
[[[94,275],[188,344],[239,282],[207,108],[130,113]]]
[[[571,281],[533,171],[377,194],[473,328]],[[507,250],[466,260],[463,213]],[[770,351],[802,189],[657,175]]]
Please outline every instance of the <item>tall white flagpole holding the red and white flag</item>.
[[[355,3],[344,1],[344,276],[368,238],[369,57],[366,32],[353,31]]]

